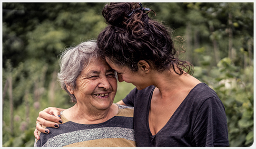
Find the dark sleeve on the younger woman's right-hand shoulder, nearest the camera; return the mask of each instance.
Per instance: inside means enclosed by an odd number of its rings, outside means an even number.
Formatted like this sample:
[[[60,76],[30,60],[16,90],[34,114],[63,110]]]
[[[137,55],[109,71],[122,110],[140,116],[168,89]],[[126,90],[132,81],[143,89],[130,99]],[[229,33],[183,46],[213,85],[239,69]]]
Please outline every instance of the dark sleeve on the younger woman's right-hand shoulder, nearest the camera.
[[[226,112],[217,97],[208,98],[197,112],[192,142],[197,147],[228,147]]]

